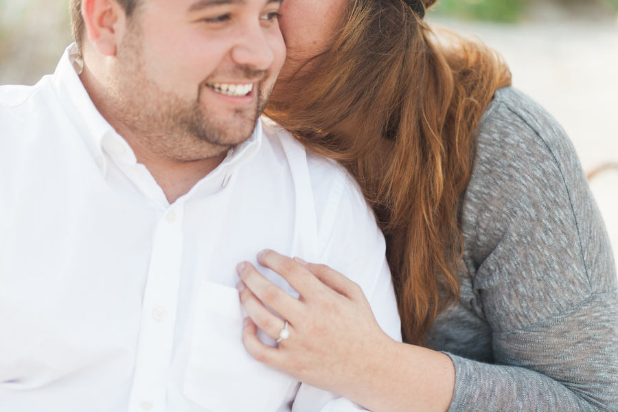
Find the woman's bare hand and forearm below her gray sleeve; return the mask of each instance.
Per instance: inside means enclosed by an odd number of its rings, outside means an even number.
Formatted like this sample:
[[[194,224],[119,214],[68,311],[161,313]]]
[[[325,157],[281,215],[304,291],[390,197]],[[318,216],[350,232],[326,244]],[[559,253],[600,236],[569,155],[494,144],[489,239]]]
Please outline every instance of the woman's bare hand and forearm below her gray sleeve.
[[[240,298],[250,316],[243,341],[254,358],[371,411],[448,409],[455,385],[450,358],[393,341],[358,285],[328,266],[273,251],[264,251],[258,261],[282,275],[300,298],[277,288],[248,262],[238,266]],[[262,301],[288,321],[290,336],[276,348],[256,335],[259,327],[277,339],[284,328]]]

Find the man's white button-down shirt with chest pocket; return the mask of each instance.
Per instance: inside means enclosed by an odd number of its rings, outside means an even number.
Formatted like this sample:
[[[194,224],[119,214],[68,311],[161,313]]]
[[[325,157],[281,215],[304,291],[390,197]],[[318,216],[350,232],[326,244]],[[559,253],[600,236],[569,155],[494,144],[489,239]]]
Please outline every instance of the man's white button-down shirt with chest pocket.
[[[236,264],[262,249],[323,262],[399,339],[385,242],[356,185],[258,122],[170,205],[70,50],[34,87],[0,87],[0,411],[356,410],[249,356],[235,288]]]

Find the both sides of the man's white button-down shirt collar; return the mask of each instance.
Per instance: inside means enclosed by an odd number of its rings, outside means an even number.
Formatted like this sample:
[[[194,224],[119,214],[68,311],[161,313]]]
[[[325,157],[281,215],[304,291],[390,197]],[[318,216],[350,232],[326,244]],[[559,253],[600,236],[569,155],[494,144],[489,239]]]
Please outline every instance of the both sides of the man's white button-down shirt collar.
[[[84,62],[77,53],[76,44],[73,43],[65,49],[52,77],[52,87],[60,104],[79,135],[84,139],[93,161],[98,163],[103,174],[106,171],[102,156],[104,148],[106,152],[119,156],[123,163],[135,164],[137,159],[133,150],[99,113],[84,88],[79,76],[83,68]],[[258,119],[251,137],[236,148],[229,150],[225,160],[211,174],[225,170],[222,176],[222,185],[225,187],[233,172],[260,150],[262,138],[262,120]]]

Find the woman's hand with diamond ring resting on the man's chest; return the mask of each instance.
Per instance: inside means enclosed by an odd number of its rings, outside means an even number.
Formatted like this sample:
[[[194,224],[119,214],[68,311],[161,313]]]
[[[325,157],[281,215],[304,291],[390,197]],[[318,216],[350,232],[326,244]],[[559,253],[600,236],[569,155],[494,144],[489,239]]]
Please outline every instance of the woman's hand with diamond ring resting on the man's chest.
[[[249,313],[242,340],[251,356],[352,400],[363,399],[369,387],[379,391],[380,382],[387,382],[380,374],[389,374],[397,343],[380,329],[361,287],[328,266],[273,251],[260,253],[258,262],[282,275],[300,298],[279,289],[248,262],[238,265],[240,300]],[[288,321],[289,337],[278,347],[264,345],[256,335],[260,328],[278,339],[285,325],[264,304]]]

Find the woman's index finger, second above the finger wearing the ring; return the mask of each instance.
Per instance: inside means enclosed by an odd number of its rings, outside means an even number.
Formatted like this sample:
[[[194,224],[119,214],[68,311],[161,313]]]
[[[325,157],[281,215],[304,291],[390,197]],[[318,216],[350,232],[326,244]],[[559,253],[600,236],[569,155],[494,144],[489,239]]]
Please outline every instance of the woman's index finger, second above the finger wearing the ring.
[[[282,275],[301,297],[306,297],[322,286],[321,282],[317,282],[316,277],[308,271],[308,268],[300,263],[302,261],[290,259],[267,249],[258,254],[258,262]]]

